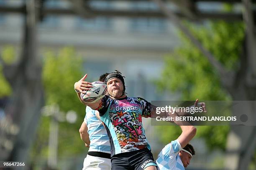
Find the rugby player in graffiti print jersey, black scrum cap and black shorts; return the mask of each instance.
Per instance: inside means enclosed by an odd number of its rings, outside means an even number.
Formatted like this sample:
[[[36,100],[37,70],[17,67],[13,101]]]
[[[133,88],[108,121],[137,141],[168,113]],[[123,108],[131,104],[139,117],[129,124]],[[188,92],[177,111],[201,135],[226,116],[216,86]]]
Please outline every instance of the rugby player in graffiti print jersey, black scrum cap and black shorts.
[[[109,96],[85,105],[99,112],[111,147],[112,170],[156,170],[151,147],[145,136],[142,117],[151,117],[156,107],[140,97],[127,97],[120,72],[109,74],[105,83]],[[89,82],[84,86],[90,87]]]

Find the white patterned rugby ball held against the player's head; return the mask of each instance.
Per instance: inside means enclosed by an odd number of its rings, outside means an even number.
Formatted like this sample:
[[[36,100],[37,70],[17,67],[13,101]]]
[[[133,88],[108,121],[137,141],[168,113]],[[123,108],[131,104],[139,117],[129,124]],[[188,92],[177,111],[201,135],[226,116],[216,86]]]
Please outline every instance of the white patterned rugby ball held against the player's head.
[[[95,103],[96,101],[102,99],[107,91],[108,89],[105,83],[102,81],[94,81],[92,82],[92,87],[90,87],[90,90],[85,91],[85,93],[81,93],[80,96],[82,101],[87,103]]]

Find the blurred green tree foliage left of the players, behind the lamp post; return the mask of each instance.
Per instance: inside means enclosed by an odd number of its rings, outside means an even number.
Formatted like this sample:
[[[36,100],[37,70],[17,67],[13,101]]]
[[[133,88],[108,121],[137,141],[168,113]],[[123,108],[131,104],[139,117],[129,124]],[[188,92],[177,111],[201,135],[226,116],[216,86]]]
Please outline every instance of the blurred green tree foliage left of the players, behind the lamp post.
[[[43,84],[46,105],[57,104],[60,111],[77,113],[77,122],[59,123],[58,155],[77,155],[85,151],[79,136],[79,127],[84,119],[85,107],[77,98],[74,83],[82,77],[82,58],[73,48],[63,48],[58,54],[52,51],[45,53],[43,66]],[[33,147],[33,155],[47,156],[49,140],[49,117],[42,117],[38,128],[38,140]]]

